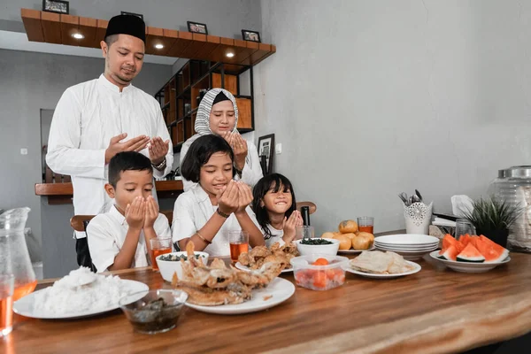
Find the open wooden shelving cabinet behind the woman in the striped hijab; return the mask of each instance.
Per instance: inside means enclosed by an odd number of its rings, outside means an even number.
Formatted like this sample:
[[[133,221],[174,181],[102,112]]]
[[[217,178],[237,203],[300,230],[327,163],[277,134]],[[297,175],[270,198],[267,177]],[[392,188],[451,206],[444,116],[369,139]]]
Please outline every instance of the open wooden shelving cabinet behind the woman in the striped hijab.
[[[241,80],[246,80],[248,94],[241,95]],[[173,151],[181,151],[182,143],[196,134],[196,112],[204,90],[227,89],[238,105],[238,131],[254,130],[252,66],[189,60],[159,89],[157,98],[165,124],[173,142]]]

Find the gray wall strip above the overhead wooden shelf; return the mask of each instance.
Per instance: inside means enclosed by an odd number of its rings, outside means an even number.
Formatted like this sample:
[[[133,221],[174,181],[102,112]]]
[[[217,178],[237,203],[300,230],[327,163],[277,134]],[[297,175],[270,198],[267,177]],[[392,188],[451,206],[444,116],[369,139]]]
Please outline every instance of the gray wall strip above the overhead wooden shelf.
[[[0,29],[12,30],[21,22],[20,8],[41,10],[42,1],[3,0]],[[210,35],[229,38],[242,38],[242,29],[261,28],[258,0],[70,1],[70,13],[77,16],[111,19],[121,11],[142,13],[146,24],[153,27],[188,31],[187,20],[201,22]]]

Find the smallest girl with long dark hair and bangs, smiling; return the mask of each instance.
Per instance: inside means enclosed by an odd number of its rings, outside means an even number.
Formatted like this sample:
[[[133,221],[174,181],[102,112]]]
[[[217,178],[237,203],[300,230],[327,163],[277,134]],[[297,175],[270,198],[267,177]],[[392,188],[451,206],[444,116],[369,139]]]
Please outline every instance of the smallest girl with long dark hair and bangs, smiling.
[[[303,225],[296,210],[295,193],[291,182],[280,173],[263,177],[253,189],[252,209],[264,231],[267,247],[274,242],[291,242],[295,228]]]

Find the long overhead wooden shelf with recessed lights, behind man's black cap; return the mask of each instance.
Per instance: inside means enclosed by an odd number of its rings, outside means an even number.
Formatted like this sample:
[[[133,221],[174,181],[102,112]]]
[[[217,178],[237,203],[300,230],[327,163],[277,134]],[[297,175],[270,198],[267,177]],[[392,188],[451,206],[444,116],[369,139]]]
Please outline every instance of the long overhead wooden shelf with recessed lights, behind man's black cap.
[[[100,48],[109,23],[105,19],[20,9],[27,39],[87,48]],[[76,40],[73,33],[85,38]],[[158,50],[155,44],[163,44]],[[158,27],[146,27],[146,53],[173,58],[190,58],[239,65],[257,65],[276,51],[273,44],[248,42],[216,35],[192,34]],[[233,52],[233,58],[227,53]]]

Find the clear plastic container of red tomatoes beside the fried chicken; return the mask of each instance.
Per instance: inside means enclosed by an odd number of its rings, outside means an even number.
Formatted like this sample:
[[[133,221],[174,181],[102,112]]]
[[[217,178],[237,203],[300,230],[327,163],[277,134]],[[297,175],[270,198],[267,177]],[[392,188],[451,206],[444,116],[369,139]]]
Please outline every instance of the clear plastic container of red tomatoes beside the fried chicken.
[[[328,264],[326,266],[313,266],[312,263],[319,258],[326,259]],[[349,258],[312,254],[291,258],[289,263],[293,266],[296,285],[312,290],[328,290],[339,287],[345,282],[343,266],[349,263]]]

